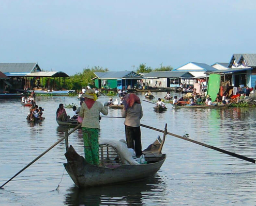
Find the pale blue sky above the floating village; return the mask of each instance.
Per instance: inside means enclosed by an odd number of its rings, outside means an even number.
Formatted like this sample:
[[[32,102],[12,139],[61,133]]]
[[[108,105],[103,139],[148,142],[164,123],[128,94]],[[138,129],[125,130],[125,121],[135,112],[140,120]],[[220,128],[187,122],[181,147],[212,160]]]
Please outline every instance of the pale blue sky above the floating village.
[[[256,1],[1,0],[0,62],[68,75],[177,68],[256,53]]]

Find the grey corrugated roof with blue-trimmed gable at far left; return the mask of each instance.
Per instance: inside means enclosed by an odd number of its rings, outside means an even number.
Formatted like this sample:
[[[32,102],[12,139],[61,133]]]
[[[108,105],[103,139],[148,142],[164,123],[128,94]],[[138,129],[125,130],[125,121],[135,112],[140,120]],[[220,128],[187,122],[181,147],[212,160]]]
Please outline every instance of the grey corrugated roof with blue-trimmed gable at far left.
[[[37,63],[0,63],[0,71],[3,73],[31,73],[36,65]],[[41,71],[39,66],[38,68]]]

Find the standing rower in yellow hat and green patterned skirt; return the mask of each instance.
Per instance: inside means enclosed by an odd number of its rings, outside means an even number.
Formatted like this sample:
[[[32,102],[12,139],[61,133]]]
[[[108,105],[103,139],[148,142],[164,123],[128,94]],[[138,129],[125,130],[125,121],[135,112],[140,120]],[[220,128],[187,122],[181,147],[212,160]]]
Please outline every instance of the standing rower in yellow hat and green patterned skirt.
[[[99,165],[99,116],[100,112],[108,115],[109,102],[105,102],[103,106],[99,101],[96,101],[97,95],[93,89],[86,90],[84,98],[79,116],[83,117],[85,160],[89,164]]]

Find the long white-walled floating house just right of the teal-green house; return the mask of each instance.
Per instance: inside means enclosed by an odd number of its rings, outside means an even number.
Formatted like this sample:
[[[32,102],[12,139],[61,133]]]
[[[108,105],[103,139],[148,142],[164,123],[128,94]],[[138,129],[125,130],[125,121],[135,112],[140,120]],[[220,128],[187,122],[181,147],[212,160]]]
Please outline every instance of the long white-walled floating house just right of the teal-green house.
[[[178,87],[180,83],[189,85],[193,77],[189,72],[150,72],[144,76],[142,83],[148,87]]]

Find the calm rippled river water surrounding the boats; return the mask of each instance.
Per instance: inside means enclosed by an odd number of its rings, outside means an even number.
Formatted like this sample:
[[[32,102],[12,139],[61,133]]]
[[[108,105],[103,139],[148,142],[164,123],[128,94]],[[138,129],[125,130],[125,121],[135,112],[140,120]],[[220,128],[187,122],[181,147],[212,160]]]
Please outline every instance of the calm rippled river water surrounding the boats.
[[[155,93],[156,97],[164,95]],[[99,98],[102,103],[106,100]],[[76,97],[37,97],[46,120],[34,125],[26,122],[29,108],[22,107],[19,100],[0,100],[1,185],[64,136],[66,128],[55,122],[59,103],[78,105],[79,101]],[[167,123],[171,133],[189,133],[190,139],[256,159],[256,109],[185,110],[167,105],[167,112],[155,113],[153,106],[142,102],[142,124],[163,130]],[[71,109],[66,111],[72,114]],[[108,116],[121,116],[121,111],[109,110]],[[123,122],[102,118],[100,138],[125,139]],[[162,136],[154,130],[141,130],[144,148],[157,135]],[[69,142],[83,155],[79,133],[71,134]],[[79,190],[64,171],[62,142],[0,190],[0,205],[256,205],[253,163],[169,135],[163,152],[167,160],[153,178]]]

